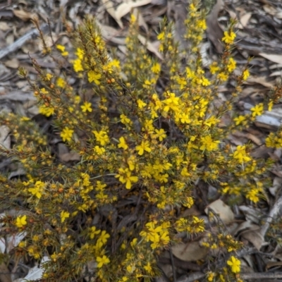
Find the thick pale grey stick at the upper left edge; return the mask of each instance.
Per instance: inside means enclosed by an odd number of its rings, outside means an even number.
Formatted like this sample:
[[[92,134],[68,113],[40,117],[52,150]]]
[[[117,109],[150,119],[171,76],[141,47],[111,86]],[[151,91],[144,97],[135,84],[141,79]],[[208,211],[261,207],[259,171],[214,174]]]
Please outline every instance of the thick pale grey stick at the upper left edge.
[[[48,27],[48,24],[44,23],[43,25],[40,25],[40,30],[42,30],[42,32],[46,32],[47,27]],[[22,37],[18,38],[15,42],[13,42],[13,44],[1,50],[0,59],[3,59],[8,54],[11,54],[14,51],[16,51],[17,49],[19,49],[20,47],[22,47],[23,44],[25,44],[25,42],[27,42],[28,40],[35,39],[37,35],[39,35],[39,31],[37,30],[37,28],[30,30],[30,32],[27,32],[26,35],[23,35]]]

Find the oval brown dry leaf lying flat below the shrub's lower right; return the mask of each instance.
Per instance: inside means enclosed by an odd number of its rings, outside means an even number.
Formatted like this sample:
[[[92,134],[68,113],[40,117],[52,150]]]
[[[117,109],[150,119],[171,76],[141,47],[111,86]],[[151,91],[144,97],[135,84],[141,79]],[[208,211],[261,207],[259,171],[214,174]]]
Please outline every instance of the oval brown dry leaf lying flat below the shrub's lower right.
[[[201,247],[199,242],[178,244],[171,247],[171,250],[173,255],[175,255],[178,259],[184,260],[185,262],[203,259],[209,252],[209,249],[207,247]]]

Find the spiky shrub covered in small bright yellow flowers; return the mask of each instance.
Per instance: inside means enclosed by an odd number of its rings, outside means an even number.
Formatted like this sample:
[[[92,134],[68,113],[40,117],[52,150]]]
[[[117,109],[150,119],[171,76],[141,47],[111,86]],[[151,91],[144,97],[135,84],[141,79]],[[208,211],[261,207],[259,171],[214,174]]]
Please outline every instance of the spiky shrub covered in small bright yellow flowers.
[[[222,125],[221,118],[233,109],[249,71],[247,66],[241,70],[231,99],[216,106],[219,85],[236,68],[231,56],[235,31],[232,23],[224,32],[221,60],[203,66],[205,16],[192,1],[185,21],[189,46],[185,52],[173,39],[173,25],[164,20],[157,35],[162,60],[140,44],[132,16],[125,61],[109,53],[94,20],[87,18],[70,35],[73,49],[57,44],[43,52],[45,56],[59,52],[68,61],[68,66],[61,66],[54,58],[60,73],[47,73],[32,60],[37,72],[33,81],[20,69],[58,142],[80,156],[73,165],[64,163],[32,119],[1,116],[14,145],[1,147],[0,152],[25,169],[23,178],[0,176],[1,208],[22,211],[1,217],[2,230],[25,232],[16,247],[18,259],[49,257],[43,265],[46,281],[88,277],[134,282],[158,276],[161,251],[178,243],[180,233],[190,238],[205,231],[203,219],[176,216],[176,208],[194,204],[192,192],[199,181],[212,183],[233,201],[245,197],[256,204],[264,197],[271,162],[253,159],[251,145],[231,147],[226,136],[278,102],[281,90],[277,88],[250,114],[233,115],[231,123]],[[79,88],[71,84],[70,76],[79,81]],[[92,89],[92,99],[84,95],[86,87]],[[281,135],[269,135],[266,145],[281,146]],[[224,268],[207,271],[207,281],[214,277],[237,281],[240,260],[235,251],[240,243],[222,232],[204,244],[230,253]]]

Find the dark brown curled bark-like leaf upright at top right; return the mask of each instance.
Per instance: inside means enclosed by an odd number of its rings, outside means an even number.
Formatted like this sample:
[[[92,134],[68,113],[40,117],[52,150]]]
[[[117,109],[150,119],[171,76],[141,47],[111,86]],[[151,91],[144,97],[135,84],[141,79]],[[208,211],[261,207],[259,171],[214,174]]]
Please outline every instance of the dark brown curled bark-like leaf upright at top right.
[[[222,53],[223,44],[221,43],[221,39],[223,37],[223,31],[219,26],[219,22],[217,21],[217,17],[219,15],[219,11],[223,8],[223,0],[217,0],[214,8],[212,8],[211,13],[207,17],[207,37],[212,41],[214,46],[216,47],[216,51]]]

